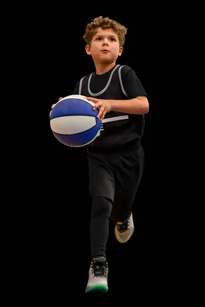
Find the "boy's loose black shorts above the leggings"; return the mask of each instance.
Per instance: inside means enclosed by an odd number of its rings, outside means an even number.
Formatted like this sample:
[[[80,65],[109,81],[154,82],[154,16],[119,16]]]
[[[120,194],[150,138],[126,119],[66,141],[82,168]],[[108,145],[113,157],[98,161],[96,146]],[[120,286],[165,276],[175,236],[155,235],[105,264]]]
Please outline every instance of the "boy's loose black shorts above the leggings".
[[[133,151],[105,153],[88,147],[87,153],[90,195],[109,198],[119,221],[131,213],[144,169],[144,150],[139,144]]]

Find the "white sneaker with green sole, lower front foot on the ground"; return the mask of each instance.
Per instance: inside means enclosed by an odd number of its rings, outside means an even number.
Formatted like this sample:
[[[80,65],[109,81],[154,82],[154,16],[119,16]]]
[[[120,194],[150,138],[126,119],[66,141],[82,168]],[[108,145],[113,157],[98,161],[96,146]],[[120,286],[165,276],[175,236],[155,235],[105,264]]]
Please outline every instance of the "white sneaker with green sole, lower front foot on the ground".
[[[105,257],[92,260],[89,279],[86,287],[87,294],[104,294],[108,291],[108,263]]]

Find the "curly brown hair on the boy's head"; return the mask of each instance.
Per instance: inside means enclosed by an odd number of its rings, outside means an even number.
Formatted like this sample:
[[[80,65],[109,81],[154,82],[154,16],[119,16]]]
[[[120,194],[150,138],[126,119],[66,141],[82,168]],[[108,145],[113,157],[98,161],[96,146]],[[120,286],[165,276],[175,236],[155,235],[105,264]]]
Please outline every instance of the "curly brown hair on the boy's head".
[[[93,21],[86,26],[86,33],[83,38],[86,43],[90,46],[93,36],[96,34],[98,28],[102,29],[113,29],[116,32],[119,39],[119,46],[124,46],[125,44],[125,34],[127,34],[128,29],[125,26],[117,23],[117,21],[110,19],[109,17],[103,18],[103,16],[96,17],[92,19]]]

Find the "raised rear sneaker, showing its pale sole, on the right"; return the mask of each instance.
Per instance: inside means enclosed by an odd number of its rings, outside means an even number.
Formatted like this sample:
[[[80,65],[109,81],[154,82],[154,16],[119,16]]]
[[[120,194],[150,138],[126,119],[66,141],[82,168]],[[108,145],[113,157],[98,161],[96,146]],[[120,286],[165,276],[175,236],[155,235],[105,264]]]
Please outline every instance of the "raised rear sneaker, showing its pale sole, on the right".
[[[134,223],[132,214],[127,222],[115,225],[115,237],[119,243],[126,243],[131,238],[134,232]]]

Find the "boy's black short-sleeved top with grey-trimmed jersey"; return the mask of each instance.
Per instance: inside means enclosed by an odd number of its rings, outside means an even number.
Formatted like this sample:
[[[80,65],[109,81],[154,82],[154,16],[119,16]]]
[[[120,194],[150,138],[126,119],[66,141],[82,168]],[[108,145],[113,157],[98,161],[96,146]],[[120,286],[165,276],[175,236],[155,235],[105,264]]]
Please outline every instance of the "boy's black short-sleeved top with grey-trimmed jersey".
[[[83,95],[98,99],[133,99],[147,96],[135,72],[127,65],[115,65],[102,75],[89,74],[81,78],[72,95]],[[145,128],[144,115],[133,115],[110,111],[105,115],[98,136],[89,147],[127,147],[140,141]]]

